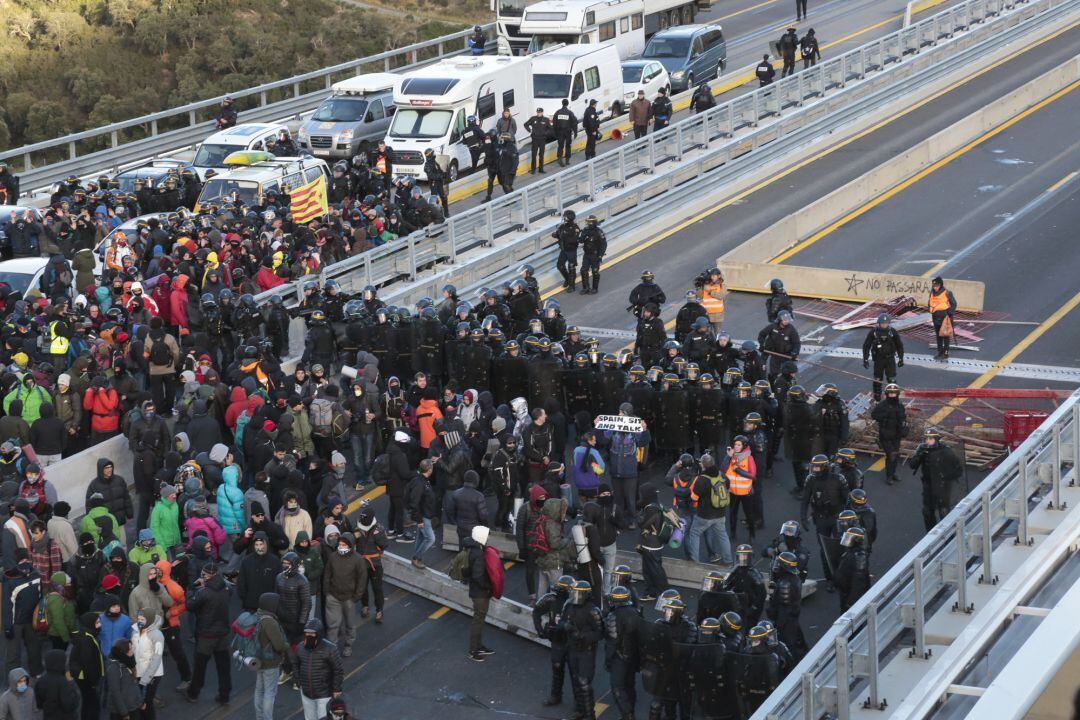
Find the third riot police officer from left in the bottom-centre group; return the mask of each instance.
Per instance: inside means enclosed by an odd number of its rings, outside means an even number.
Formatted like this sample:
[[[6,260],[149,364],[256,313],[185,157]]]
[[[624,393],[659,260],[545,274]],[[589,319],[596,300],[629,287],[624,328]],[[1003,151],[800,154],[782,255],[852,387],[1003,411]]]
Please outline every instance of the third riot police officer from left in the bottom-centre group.
[[[619,566],[625,568],[625,566]],[[619,570],[616,568],[616,570]],[[626,574],[630,568],[625,568]],[[616,573],[612,572],[612,575]],[[629,582],[629,578],[626,579]],[[612,583],[617,579],[612,578]],[[604,667],[611,682],[611,697],[620,720],[632,720],[637,702],[638,630],[642,615],[634,607],[629,585],[615,584],[607,594],[608,610],[604,613]]]

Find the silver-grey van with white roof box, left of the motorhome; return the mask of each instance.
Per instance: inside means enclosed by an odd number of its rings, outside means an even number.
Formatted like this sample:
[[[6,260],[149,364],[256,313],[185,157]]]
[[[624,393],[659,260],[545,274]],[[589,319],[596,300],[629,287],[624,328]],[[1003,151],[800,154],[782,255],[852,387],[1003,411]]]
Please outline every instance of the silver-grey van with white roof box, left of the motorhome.
[[[319,158],[352,158],[363,140],[380,139],[393,118],[400,77],[372,72],[334,83],[296,134],[299,147]]]

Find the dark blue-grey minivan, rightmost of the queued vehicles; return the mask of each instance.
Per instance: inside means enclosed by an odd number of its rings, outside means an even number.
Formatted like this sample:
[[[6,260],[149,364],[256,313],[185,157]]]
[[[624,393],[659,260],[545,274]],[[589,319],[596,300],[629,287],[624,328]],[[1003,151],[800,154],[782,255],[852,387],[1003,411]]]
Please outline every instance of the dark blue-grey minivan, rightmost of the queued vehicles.
[[[671,74],[672,91],[680,93],[720,77],[728,46],[719,25],[679,25],[652,36],[642,58],[660,60]]]

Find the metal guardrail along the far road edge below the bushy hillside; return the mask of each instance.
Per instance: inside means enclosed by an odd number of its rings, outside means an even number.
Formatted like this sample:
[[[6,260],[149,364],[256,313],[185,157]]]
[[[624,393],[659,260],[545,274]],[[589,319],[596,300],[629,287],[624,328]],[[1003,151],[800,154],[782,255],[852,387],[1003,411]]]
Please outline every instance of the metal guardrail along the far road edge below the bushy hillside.
[[[481,26],[494,37],[495,23]],[[365,72],[407,70],[468,51],[472,29],[360,57],[311,72],[268,82],[228,95],[237,100],[242,122],[267,122],[314,109],[335,82]],[[494,47],[495,43],[488,43]],[[211,118],[225,95],[189,103],[110,125],[72,133],[0,152],[16,166],[26,190],[45,187],[68,175],[117,172],[126,164],[192,145],[213,131]],[[106,147],[102,147],[102,145]],[[67,154],[65,160],[57,154]],[[51,157],[51,158],[50,158]],[[37,161],[35,159],[38,159]],[[44,164],[41,164],[43,161]],[[21,165],[21,167],[18,167]]]

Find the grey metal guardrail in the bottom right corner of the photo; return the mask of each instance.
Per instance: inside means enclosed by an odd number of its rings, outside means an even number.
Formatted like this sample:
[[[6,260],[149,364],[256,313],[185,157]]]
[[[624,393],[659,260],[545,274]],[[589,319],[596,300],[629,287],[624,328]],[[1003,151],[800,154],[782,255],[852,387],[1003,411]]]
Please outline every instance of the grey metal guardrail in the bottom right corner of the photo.
[[[1029,544],[1030,510],[1062,508],[1064,466],[1080,468],[1080,391],[834,623],[752,720],[847,720],[864,693],[866,707],[878,707],[882,661],[926,657],[930,611],[954,593],[966,608],[975,566],[976,582],[994,582],[997,544]]]

